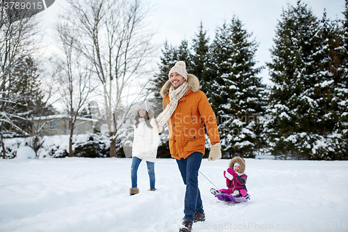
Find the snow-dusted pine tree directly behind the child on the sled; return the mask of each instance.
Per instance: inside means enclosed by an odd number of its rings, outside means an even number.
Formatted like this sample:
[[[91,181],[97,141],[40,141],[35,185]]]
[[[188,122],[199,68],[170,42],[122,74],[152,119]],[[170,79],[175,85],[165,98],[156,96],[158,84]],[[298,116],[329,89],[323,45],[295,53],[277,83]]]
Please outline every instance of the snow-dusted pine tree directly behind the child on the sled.
[[[261,68],[255,68],[258,44],[233,17],[216,30],[212,43],[210,84],[211,104],[216,112],[223,155],[254,157],[258,134],[258,116],[262,114],[261,92],[264,86],[256,77]]]

